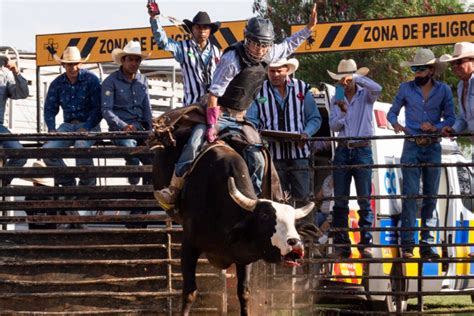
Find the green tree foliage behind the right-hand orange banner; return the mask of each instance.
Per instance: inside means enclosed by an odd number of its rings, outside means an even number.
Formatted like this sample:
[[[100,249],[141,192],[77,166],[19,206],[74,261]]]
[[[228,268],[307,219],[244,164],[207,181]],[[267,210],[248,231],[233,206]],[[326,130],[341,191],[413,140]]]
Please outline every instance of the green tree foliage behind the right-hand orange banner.
[[[462,12],[458,0],[316,0],[318,21],[337,22],[350,20],[382,19]],[[306,24],[313,1],[303,0],[255,0],[254,11],[272,20],[279,38],[290,33],[291,24]],[[452,52],[452,45],[431,48],[436,56]],[[359,67],[370,68],[369,76],[383,88],[381,101],[392,102],[398,86],[412,79],[409,69],[401,68],[400,62],[411,60],[416,48],[377,49],[359,52],[341,52],[299,55],[300,68],[297,76],[315,86],[320,82],[333,83],[326,69],[335,71],[342,58],[353,58]],[[442,77],[452,87],[457,79],[450,71]]]

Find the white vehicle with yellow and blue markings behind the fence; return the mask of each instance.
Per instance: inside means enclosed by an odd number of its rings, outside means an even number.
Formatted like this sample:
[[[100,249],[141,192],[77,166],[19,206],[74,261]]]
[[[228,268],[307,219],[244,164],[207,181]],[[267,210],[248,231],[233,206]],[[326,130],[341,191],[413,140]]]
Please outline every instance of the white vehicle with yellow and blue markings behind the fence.
[[[326,91],[315,95],[321,115],[323,117],[323,126],[317,136],[333,136],[329,131],[329,126],[325,118],[328,117],[330,95],[333,93],[334,87],[325,85]],[[386,113],[390,109],[391,104],[376,102],[374,105],[374,128],[375,135],[395,135],[393,128],[386,119]],[[404,115],[400,116],[404,120]],[[403,123],[402,123],[403,124]],[[443,139],[442,145],[442,163],[466,163],[462,156],[457,143],[448,139]],[[403,139],[379,139],[372,141],[372,151],[374,164],[394,164],[400,163],[400,157],[403,148]],[[333,148],[334,149],[334,148]],[[331,154],[333,154],[334,150]],[[316,165],[326,164],[331,157],[316,157]],[[322,173],[318,175],[319,173]],[[324,179],[330,171],[316,171],[315,184],[320,185],[320,181]],[[401,194],[402,173],[400,168],[374,168],[372,175],[372,194],[373,195],[399,195]],[[471,194],[473,175],[468,167],[443,167],[441,172],[439,195],[458,195]],[[356,196],[354,181],[352,181],[351,196]],[[439,219],[439,227],[472,227],[474,226],[474,214],[472,213],[472,202],[469,199],[447,198],[438,199],[437,214]],[[400,199],[373,199],[372,208],[374,211],[375,227],[397,227],[399,215],[401,213]],[[358,227],[359,208],[357,201],[350,200],[350,227]],[[418,223],[420,220],[418,219]],[[384,248],[374,248],[374,258],[398,258],[398,248],[389,247],[398,244],[398,237],[394,231],[374,232],[374,244],[387,245]],[[438,231],[436,232],[436,242],[446,244],[446,246],[438,247],[438,253],[443,258],[467,258],[468,254],[474,251],[474,247],[469,249],[468,246],[451,246],[454,243],[473,243],[474,231]],[[350,233],[353,245],[359,242],[358,233]],[[352,257],[359,258],[357,247],[352,247]],[[419,250],[415,248],[415,257],[419,257]],[[401,311],[406,309],[406,302],[409,296],[414,296],[418,292],[417,280],[400,280],[400,279],[370,279],[368,282],[362,281],[360,278],[351,278],[351,276],[360,276],[367,272],[367,267],[363,267],[361,263],[336,263],[333,264],[328,273],[334,276],[333,280],[321,286],[331,288],[337,285],[337,288],[351,288],[368,291],[394,291],[406,292],[407,296],[402,297]],[[417,276],[417,263],[370,263],[368,267],[370,276]],[[449,276],[472,275],[470,279],[446,279]],[[423,291],[464,291],[474,289],[474,265],[469,262],[450,262],[442,263],[424,263],[423,276],[439,276],[436,279],[423,280]],[[444,276],[444,278],[443,278]],[[366,296],[357,295],[358,298],[372,301],[372,305],[379,310],[396,311],[396,297],[390,295]]]

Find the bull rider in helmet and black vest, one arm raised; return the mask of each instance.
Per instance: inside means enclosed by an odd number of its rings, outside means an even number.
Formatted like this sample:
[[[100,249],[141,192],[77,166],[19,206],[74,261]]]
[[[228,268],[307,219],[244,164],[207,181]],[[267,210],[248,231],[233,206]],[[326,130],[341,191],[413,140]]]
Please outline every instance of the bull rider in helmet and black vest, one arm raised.
[[[308,25],[301,31],[274,45],[275,32],[270,20],[253,17],[247,21],[245,39],[226,49],[217,65],[206,109],[208,125],[200,124],[191,137],[200,148],[205,135],[209,143],[217,139],[217,132],[225,128],[241,129],[245,111],[265,80],[266,66],[293,53],[308,37],[317,23],[316,5]],[[222,113],[220,111],[222,108]],[[196,135],[197,134],[197,135]],[[184,185],[184,175],[196,153],[183,151],[175,165],[170,185],[155,191],[155,198],[165,209],[171,209]],[[245,160],[249,167],[255,193],[261,193],[264,158],[257,146],[247,146]]]

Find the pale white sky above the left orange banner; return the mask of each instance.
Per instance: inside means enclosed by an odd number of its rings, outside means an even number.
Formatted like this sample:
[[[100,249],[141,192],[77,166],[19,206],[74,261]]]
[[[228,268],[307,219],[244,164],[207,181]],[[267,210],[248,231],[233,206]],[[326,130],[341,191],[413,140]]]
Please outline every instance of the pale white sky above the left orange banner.
[[[198,11],[206,11],[212,21],[246,20],[253,16],[253,0],[157,3],[164,15],[179,20],[192,20]],[[0,0],[0,46],[34,52],[36,34],[149,27],[146,4],[146,0]]]

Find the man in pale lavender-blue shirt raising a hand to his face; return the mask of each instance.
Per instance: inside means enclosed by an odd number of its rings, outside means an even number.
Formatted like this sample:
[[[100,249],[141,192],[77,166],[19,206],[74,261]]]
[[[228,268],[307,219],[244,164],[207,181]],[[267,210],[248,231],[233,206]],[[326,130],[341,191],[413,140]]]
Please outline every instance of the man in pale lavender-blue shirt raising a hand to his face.
[[[353,59],[339,62],[337,73],[328,70],[332,79],[337,80],[336,89],[340,93],[332,97],[329,113],[329,126],[338,137],[370,137],[374,135],[372,119],[373,106],[382,92],[382,87],[368,78],[369,69],[357,69]],[[359,227],[370,228],[373,224],[373,210],[370,206],[372,188],[372,145],[370,140],[340,140],[334,154],[333,170],[334,196],[333,227],[348,228],[351,181],[354,178],[359,204]],[[365,168],[347,169],[345,165],[366,165]],[[349,233],[334,233],[334,243],[344,246],[334,249],[335,258],[351,256]],[[363,258],[372,258],[372,234],[361,231],[359,251]]]

